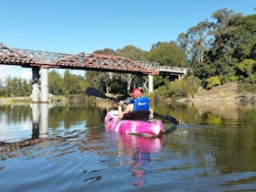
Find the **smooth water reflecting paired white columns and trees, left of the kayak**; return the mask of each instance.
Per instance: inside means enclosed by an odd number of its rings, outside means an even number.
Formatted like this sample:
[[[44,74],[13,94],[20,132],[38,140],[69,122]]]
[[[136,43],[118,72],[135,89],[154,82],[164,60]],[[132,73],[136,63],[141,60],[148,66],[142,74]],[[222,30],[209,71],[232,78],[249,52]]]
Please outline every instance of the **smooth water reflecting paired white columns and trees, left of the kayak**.
[[[31,103],[0,105],[0,142],[21,142],[48,136],[70,136],[86,126],[103,123],[101,109],[92,104]],[[95,118],[97,117],[97,118]]]

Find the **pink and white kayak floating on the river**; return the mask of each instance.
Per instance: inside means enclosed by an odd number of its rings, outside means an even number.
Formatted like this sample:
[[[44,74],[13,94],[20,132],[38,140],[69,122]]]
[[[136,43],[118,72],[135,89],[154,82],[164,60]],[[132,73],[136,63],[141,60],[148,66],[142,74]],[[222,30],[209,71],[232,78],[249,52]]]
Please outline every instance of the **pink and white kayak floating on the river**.
[[[119,120],[117,110],[107,112],[104,122],[106,131],[109,132],[132,133],[154,137],[164,133],[164,125],[158,119],[153,119],[148,122]]]

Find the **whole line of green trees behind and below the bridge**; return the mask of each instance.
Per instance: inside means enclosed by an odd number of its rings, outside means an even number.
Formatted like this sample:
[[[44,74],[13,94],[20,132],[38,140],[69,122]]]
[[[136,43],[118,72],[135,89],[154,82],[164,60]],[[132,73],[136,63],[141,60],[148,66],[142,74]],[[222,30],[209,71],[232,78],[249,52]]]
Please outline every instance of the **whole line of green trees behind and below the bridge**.
[[[256,15],[242,16],[232,10],[220,9],[211,17],[214,22],[208,19],[199,22],[180,34],[176,41],[157,42],[149,51],[128,45],[94,53],[192,69],[186,79],[179,81],[170,82],[167,77],[155,76],[155,99],[186,97],[193,95],[199,87],[211,89],[230,81],[238,81],[245,90],[255,91]],[[51,70],[49,92],[54,95],[80,94],[92,86],[124,94],[133,86],[142,86],[145,80],[146,77],[131,74],[95,71],[85,71],[84,76],[80,76],[66,70],[61,76],[57,70]],[[0,80],[1,95],[27,96],[31,93],[31,81],[8,78],[5,85],[3,87]]]

